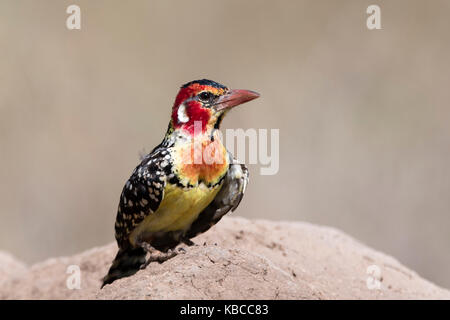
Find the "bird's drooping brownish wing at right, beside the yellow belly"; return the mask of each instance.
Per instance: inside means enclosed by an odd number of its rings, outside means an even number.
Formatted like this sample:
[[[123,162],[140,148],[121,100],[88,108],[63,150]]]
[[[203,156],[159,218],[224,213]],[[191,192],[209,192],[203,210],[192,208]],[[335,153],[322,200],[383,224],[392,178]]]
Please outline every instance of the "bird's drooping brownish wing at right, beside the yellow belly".
[[[222,188],[217,193],[214,200],[192,223],[185,237],[190,239],[207,231],[219,222],[219,220],[230,210],[234,211],[244,196],[248,180],[249,174],[247,167],[233,159],[227,175],[225,176]]]

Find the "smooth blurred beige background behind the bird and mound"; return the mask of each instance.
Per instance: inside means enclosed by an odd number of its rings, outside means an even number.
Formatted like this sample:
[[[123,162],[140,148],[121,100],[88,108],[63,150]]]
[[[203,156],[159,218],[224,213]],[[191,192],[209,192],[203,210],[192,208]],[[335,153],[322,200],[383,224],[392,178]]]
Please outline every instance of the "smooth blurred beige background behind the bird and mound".
[[[370,4],[382,30],[366,28]],[[449,12],[2,0],[0,250],[32,263],[113,241],[139,152],[162,139],[178,87],[206,77],[262,94],[224,128],[280,129],[280,171],[251,166],[238,215],[340,228],[450,287]]]

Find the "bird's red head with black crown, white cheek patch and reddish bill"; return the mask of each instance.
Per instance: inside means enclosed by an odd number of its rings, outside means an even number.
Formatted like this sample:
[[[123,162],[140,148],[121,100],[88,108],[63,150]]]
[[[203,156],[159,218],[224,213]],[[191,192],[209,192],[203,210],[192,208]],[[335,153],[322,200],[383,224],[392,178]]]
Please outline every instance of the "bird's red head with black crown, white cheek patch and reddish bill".
[[[256,99],[250,90],[232,90],[211,80],[195,80],[180,88],[172,109],[172,127],[194,135],[218,129],[223,116],[231,108]]]

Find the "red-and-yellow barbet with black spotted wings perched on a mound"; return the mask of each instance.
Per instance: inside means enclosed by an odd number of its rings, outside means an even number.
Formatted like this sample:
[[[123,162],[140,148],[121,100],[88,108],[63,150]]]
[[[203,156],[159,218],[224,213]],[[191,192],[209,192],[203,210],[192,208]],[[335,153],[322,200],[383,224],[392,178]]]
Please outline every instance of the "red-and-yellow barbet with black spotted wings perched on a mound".
[[[193,237],[237,208],[249,171],[226,149],[219,129],[232,108],[259,96],[208,79],[181,86],[162,142],[123,187],[114,226],[118,252],[102,288],[185,253]]]

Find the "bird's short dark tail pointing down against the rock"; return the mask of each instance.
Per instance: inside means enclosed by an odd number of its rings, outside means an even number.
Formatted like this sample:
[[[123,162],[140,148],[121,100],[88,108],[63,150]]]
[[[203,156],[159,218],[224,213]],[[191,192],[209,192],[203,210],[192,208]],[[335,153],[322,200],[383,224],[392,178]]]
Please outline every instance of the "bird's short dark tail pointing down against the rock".
[[[108,274],[103,278],[102,288],[113,281],[131,276],[145,263],[146,252],[142,248],[119,249]]]

